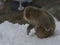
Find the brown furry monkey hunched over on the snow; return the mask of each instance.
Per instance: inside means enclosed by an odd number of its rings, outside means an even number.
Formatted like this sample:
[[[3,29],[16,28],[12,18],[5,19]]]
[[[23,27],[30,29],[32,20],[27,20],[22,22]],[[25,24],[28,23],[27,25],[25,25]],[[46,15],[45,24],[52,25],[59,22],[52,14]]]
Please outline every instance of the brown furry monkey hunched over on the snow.
[[[27,35],[32,28],[39,38],[52,36],[55,31],[55,21],[50,12],[40,8],[28,6],[24,10],[24,19],[29,23]]]

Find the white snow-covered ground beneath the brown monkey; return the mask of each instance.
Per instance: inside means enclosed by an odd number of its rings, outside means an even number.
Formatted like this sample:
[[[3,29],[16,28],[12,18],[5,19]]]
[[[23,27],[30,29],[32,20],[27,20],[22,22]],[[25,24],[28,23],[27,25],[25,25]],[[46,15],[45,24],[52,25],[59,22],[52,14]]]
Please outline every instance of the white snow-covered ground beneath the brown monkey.
[[[51,37],[40,39],[32,29],[26,35],[28,24],[12,24],[8,21],[0,24],[0,45],[60,45],[60,22],[56,22],[55,34]]]

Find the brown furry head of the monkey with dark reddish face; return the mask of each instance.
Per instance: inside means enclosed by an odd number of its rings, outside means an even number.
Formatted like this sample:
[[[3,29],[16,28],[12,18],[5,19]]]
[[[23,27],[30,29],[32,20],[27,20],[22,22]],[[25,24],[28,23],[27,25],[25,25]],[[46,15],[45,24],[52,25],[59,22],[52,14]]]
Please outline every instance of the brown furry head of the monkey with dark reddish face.
[[[24,10],[24,19],[28,22],[37,20],[42,14],[42,10],[36,7],[28,6]]]

